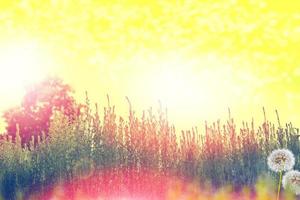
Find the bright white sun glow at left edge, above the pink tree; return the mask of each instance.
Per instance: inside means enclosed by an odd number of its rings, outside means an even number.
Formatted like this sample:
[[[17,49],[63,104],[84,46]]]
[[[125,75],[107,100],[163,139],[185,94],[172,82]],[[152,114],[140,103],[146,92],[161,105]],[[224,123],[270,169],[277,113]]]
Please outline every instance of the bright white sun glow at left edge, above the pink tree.
[[[26,85],[44,78],[44,62],[46,59],[34,42],[0,47],[1,94],[18,94]]]

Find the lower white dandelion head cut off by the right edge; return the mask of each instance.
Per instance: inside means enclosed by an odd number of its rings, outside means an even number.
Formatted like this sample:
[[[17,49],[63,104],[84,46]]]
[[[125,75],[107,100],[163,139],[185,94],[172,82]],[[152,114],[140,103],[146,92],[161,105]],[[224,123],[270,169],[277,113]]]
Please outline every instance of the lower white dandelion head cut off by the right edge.
[[[300,194],[300,172],[291,170],[282,178],[282,186],[284,189],[290,189],[296,195]]]

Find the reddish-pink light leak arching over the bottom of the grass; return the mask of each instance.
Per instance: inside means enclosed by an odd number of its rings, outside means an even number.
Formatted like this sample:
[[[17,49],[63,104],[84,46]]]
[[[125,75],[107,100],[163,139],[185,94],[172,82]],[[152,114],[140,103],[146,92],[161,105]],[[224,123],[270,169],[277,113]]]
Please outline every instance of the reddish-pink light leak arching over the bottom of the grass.
[[[169,188],[179,183],[174,176],[150,170],[112,169],[94,172],[72,182],[63,182],[31,199],[167,199]],[[184,184],[180,184],[181,186]]]

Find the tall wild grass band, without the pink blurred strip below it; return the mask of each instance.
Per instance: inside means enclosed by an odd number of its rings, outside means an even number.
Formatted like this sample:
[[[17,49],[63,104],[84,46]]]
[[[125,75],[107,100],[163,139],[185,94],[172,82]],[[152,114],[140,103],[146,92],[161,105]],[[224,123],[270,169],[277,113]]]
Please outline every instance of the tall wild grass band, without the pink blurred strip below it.
[[[81,114],[72,120],[55,113],[47,138],[32,139],[26,148],[21,146],[19,133],[16,142],[11,138],[1,141],[1,196],[27,198],[57,183],[107,169],[120,177],[124,187],[128,180],[120,174],[134,169],[199,185],[254,188],[259,176],[273,175],[266,158],[276,148],[290,149],[297,160],[295,168],[300,167],[299,129],[291,123],[275,126],[265,119],[259,127],[252,121],[237,129],[230,118],[225,124],[207,123],[204,133],[193,128],[179,134],[162,109],[157,113],[149,109],[139,117],[130,105],[129,116],[124,119],[108,103],[101,117],[98,106],[92,109],[87,98]],[[145,184],[138,178],[135,182]],[[97,183],[101,183],[100,178],[92,185],[94,190]]]

